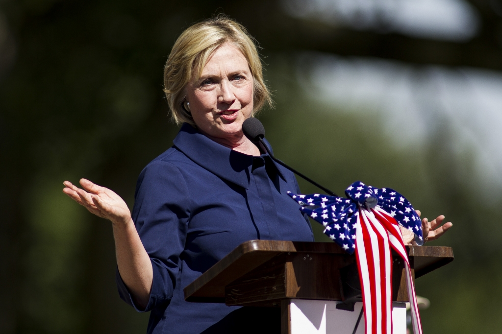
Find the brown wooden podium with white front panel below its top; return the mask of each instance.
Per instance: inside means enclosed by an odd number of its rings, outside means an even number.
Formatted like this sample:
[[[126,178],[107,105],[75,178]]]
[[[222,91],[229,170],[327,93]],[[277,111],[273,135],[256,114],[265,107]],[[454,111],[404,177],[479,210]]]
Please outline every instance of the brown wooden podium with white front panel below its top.
[[[453,261],[450,247],[407,250],[414,278]],[[404,263],[397,254],[393,258],[393,333],[401,334],[403,328],[406,332],[408,294]],[[352,334],[362,307],[355,255],[325,242],[244,242],[184,292],[191,302],[281,307],[283,334]],[[363,332],[362,319],[357,333]]]

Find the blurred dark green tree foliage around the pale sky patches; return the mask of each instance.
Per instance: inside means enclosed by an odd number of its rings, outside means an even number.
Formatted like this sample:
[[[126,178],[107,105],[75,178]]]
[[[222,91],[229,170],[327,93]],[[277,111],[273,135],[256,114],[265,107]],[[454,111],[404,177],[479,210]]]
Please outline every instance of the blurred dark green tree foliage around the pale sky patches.
[[[277,156],[339,194],[355,180],[393,187],[426,216],[443,213],[455,223],[440,241],[454,247],[455,262],[417,280],[418,293],[432,302],[422,312],[425,331],[500,331],[500,203],[470,196],[449,154],[448,124],[420,151],[396,149],[378,119],[319,112],[332,107],[298,85],[299,50],[328,45],[323,51],[337,52],[334,46],[345,45],[354,54],[378,55],[363,48],[368,40],[398,46],[401,37],[299,25],[267,1],[3,0],[0,6],[0,332],[146,330],[148,314],[136,313],[116,293],[109,224],[67,199],[62,182],[88,178],[132,206],[137,176],[177,133],[162,94],[170,48],[189,24],[221,11],[262,43],[277,108],[261,119]],[[438,50],[484,45],[483,57],[500,54],[487,37],[472,43]],[[413,52],[401,51],[391,48],[387,56],[413,61]],[[465,63],[499,66],[476,54]]]

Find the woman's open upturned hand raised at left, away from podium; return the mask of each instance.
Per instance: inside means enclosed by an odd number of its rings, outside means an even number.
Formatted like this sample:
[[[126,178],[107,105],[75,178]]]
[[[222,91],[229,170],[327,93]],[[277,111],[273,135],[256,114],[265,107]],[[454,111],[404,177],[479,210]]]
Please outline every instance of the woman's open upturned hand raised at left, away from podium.
[[[80,179],[80,189],[69,181],[63,182],[63,193],[96,216],[111,220],[113,224],[128,224],[131,211],[126,202],[111,190],[93,184],[89,180]]]

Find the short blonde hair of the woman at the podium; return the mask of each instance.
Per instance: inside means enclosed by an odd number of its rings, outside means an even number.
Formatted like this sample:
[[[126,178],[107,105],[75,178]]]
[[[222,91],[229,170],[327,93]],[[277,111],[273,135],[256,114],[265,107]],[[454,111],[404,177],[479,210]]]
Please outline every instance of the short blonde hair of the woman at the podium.
[[[164,67],[164,92],[176,124],[187,122],[195,126],[192,115],[185,110],[186,86],[200,77],[209,57],[223,44],[230,42],[242,52],[253,75],[253,114],[272,98],[263,80],[262,61],[253,38],[235,21],[219,15],[186,29],[174,43]]]

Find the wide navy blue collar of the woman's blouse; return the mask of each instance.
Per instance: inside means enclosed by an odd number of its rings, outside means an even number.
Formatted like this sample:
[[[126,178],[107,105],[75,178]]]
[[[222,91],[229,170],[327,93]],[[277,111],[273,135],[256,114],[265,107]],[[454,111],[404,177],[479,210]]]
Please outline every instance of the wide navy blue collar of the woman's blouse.
[[[269,142],[264,141],[269,149],[272,149]],[[240,153],[218,144],[188,123],[183,123],[173,143],[180,151],[209,172],[240,187],[249,188],[249,167],[253,164],[253,155]],[[261,156],[269,156],[269,154]],[[279,175],[286,181],[276,162],[272,159],[267,160],[274,163]]]

